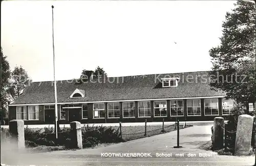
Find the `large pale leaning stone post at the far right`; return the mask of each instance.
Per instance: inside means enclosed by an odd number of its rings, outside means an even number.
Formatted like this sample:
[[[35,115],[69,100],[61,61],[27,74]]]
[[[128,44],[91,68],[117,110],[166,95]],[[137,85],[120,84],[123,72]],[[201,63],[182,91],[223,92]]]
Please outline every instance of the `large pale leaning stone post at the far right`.
[[[253,117],[250,115],[240,115],[238,117],[238,127],[234,155],[248,155],[251,147]]]

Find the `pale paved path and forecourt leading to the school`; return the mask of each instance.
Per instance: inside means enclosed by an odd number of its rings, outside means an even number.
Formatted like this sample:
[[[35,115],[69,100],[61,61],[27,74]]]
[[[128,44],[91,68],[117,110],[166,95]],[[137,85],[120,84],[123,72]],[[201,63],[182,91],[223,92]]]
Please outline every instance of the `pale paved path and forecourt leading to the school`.
[[[177,145],[177,132],[146,137],[125,143],[96,149],[76,151],[54,151],[30,155],[20,155],[18,164],[34,165],[253,165],[254,156],[220,156],[205,150],[211,144],[212,125],[193,126],[180,130],[180,146]],[[101,153],[150,153],[150,157],[104,157]],[[157,157],[157,153],[170,154],[172,157]],[[188,157],[188,154],[195,154]],[[200,157],[200,153],[211,154]],[[176,154],[182,156],[175,157]],[[184,155],[184,156],[183,156]],[[27,158],[27,159],[26,159]],[[10,162],[10,161],[9,161]],[[14,162],[12,156],[12,163]],[[15,163],[13,163],[15,164]],[[17,162],[16,162],[17,164]]]

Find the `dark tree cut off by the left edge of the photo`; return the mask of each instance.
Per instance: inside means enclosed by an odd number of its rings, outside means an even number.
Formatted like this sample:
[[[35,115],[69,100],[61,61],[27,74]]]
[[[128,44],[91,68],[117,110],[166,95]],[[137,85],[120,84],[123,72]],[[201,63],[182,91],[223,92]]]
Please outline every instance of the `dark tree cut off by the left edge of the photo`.
[[[1,121],[7,118],[7,109],[6,105],[8,102],[8,85],[10,78],[10,65],[6,60],[6,56],[3,54],[3,50],[1,47]]]

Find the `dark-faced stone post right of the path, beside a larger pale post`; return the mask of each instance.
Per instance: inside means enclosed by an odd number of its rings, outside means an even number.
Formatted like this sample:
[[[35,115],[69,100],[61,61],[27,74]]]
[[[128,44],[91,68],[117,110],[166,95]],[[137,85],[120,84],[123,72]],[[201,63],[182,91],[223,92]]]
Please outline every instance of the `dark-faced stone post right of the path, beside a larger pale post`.
[[[224,118],[214,118],[214,133],[212,134],[212,144],[214,149],[223,148],[223,136],[224,136]]]

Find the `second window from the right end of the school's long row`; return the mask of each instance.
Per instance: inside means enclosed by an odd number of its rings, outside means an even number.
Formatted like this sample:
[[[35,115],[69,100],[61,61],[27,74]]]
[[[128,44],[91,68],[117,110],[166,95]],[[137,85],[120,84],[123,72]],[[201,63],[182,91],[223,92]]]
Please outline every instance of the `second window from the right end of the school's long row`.
[[[204,99],[204,115],[219,115],[218,99]]]

